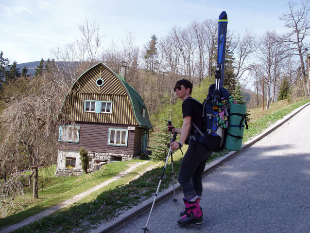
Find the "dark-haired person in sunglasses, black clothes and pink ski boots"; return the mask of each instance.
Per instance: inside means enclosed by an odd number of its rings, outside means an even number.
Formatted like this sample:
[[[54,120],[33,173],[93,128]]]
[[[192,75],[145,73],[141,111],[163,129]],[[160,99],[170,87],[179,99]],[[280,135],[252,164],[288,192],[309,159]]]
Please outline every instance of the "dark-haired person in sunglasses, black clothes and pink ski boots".
[[[202,209],[200,208],[200,199],[202,197],[202,175],[206,167],[207,159],[211,155],[211,151],[204,144],[194,143],[191,141],[191,136],[196,135],[195,128],[190,127],[191,122],[204,131],[204,122],[202,118],[202,105],[197,103],[190,97],[192,84],[185,79],[179,80],[175,84],[174,91],[177,98],[183,101],[183,125],[182,128],[172,128],[172,132],[181,134],[179,142],[172,142],[172,150],[182,147],[189,135],[189,148],[184,155],[181,163],[178,181],[183,190],[183,200],[185,210],[180,215],[178,225],[188,226],[191,224],[202,224]],[[169,129],[168,128],[168,129]]]

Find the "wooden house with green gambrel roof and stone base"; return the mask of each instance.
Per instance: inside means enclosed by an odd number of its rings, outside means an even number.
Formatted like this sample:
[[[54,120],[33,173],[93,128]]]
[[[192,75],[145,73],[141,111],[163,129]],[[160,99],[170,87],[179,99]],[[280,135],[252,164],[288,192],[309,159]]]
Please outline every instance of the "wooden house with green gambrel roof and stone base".
[[[152,125],[144,101],[123,76],[99,63],[72,85],[59,128],[55,176],[82,174],[79,148],[88,151],[89,170],[109,161],[132,160],[147,152]]]

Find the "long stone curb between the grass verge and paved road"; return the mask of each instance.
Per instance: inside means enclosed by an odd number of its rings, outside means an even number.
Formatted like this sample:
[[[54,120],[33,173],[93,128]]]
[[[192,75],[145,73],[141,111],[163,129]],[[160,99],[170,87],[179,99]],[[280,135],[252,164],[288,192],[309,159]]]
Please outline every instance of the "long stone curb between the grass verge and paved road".
[[[310,103],[307,103],[307,104],[305,104],[299,108],[296,108],[290,114],[285,116],[283,119],[278,120],[274,125],[271,125],[269,128],[267,128],[265,131],[260,133],[258,136],[254,137],[250,141],[244,143],[242,145],[240,151],[231,151],[228,154],[226,154],[226,155],[218,158],[217,160],[213,161],[212,165],[207,165],[207,167],[203,173],[203,176],[206,176],[207,174],[209,174],[210,172],[214,171],[216,168],[221,166],[224,162],[232,159],[233,157],[235,157],[236,155],[238,155],[239,153],[241,153],[242,151],[244,151],[246,148],[250,147],[254,143],[257,143],[263,137],[267,136],[268,134],[273,132],[276,128],[278,128],[281,125],[283,125],[284,123],[286,123],[293,116],[295,116],[298,112],[300,112],[302,109],[306,108],[309,105],[310,105]],[[180,184],[175,184],[174,188],[175,188],[175,193],[178,193],[181,191]],[[163,192],[158,193],[154,206],[159,205],[160,203],[162,203],[163,201],[165,201],[171,197],[173,197],[173,188],[172,187],[167,189],[167,190],[164,190]],[[154,202],[154,197],[150,197],[149,199],[143,201],[140,205],[135,206],[135,207],[127,210],[125,213],[119,215],[116,220],[109,222],[107,225],[101,226],[101,227],[97,228],[96,230],[91,231],[90,233],[115,233],[117,230],[121,229],[122,227],[124,227],[128,223],[132,222],[133,220],[135,220],[139,216],[150,211],[153,202]]]

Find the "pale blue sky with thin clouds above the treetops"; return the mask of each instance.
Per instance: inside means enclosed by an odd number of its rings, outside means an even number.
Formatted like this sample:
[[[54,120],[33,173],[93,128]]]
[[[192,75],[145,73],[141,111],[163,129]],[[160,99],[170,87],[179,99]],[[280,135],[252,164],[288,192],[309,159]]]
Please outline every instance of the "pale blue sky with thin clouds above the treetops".
[[[298,1],[298,0],[297,0]],[[0,51],[18,64],[51,57],[51,49],[80,39],[78,25],[95,22],[104,36],[121,44],[130,30],[142,48],[152,35],[167,36],[173,26],[228,16],[228,30],[257,35],[285,31],[279,17],[286,0],[0,0]]]

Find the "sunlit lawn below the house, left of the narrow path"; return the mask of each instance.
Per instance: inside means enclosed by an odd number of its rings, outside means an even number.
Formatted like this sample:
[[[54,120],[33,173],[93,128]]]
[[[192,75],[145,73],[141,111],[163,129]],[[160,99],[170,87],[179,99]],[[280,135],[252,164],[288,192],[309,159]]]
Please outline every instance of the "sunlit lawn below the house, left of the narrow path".
[[[111,179],[118,175],[121,171],[127,170],[129,166],[127,164],[143,162],[142,160],[132,161],[120,161],[116,163],[108,163],[104,166],[104,169],[99,170],[96,173],[84,174],[78,177],[52,177],[45,181],[43,191],[39,189],[39,199],[32,199],[32,190],[25,188],[25,196],[28,198],[20,198],[20,205],[24,209],[18,207],[12,208],[11,215],[0,219],[0,226],[16,224],[19,221],[37,214],[43,210],[51,208],[64,200],[67,200],[75,195],[78,195],[108,179]],[[148,162],[148,165],[154,165],[155,162]],[[141,166],[142,167],[142,166]],[[145,164],[143,165],[145,168]],[[54,167],[55,169],[55,167]],[[54,170],[50,173],[54,174]],[[40,174],[40,172],[39,172]],[[47,172],[46,172],[47,174]],[[127,176],[126,176],[127,179]],[[124,180],[124,179],[121,179]],[[127,183],[127,181],[118,181]],[[39,184],[40,184],[39,180]],[[113,185],[107,186],[114,188]]]

